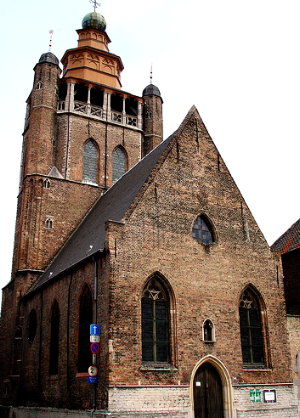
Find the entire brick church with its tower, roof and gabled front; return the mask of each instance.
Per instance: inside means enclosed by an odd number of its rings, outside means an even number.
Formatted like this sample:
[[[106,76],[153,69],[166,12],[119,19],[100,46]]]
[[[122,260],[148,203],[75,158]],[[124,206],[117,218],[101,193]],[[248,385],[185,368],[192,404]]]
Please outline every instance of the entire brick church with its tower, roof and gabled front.
[[[1,416],[299,417],[281,258],[197,109],[165,139],[104,17],[77,34],[27,100]]]

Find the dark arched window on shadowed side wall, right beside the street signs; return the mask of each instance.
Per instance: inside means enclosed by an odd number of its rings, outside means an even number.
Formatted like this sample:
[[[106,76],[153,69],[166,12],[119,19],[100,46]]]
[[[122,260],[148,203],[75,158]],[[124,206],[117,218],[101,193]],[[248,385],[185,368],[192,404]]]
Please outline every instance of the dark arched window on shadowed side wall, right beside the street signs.
[[[85,286],[79,306],[79,334],[78,334],[78,371],[87,372],[91,365],[90,324],[93,319],[92,294],[88,286]]]

